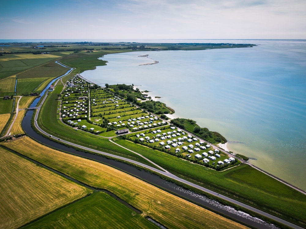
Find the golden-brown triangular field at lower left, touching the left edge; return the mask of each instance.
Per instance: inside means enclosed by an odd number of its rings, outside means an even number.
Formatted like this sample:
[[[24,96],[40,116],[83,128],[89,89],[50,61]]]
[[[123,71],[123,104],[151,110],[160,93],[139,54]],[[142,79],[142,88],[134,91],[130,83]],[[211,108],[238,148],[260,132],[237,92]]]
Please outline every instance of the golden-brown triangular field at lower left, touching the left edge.
[[[91,190],[0,147],[0,228],[18,228]]]

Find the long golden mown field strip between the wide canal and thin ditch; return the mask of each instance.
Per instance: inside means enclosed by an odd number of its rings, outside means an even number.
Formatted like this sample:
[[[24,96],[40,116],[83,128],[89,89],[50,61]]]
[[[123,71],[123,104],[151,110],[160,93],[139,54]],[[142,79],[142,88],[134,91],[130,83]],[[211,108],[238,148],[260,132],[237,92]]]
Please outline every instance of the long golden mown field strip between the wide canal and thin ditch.
[[[2,143],[93,187],[106,189],[167,228],[247,228],[114,169],[23,137]],[[33,150],[35,149],[35,150]]]

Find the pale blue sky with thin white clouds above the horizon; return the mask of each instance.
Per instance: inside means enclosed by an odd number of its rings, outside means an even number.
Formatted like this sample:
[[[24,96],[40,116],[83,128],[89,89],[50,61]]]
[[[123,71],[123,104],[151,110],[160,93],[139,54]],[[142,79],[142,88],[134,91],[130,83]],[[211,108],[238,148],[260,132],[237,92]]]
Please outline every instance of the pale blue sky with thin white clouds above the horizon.
[[[306,39],[305,0],[2,0],[0,39]]]

